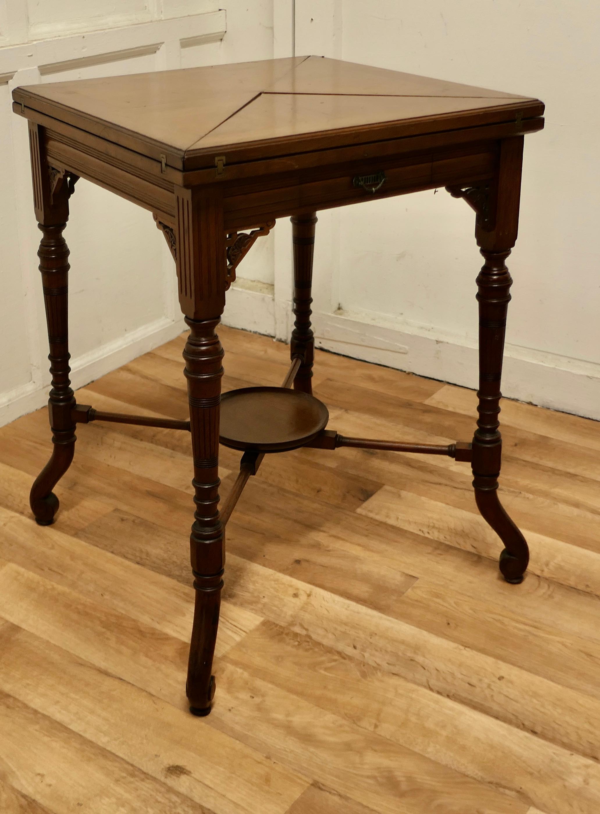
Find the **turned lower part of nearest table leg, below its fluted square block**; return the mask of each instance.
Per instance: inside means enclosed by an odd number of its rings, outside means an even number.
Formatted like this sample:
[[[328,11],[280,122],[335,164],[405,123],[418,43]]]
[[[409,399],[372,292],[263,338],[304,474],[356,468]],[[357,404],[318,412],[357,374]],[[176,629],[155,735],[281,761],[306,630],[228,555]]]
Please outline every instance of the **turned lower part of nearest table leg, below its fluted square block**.
[[[212,658],[217,641],[223,587],[224,532],[219,519],[219,404],[223,351],[215,333],[218,319],[186,318],[191,328],[183,357],[190,402],[194,456],[195,514],[191,527],[191,567],[195,610],[187,668],[190,711],[208,715],[215,692]]]

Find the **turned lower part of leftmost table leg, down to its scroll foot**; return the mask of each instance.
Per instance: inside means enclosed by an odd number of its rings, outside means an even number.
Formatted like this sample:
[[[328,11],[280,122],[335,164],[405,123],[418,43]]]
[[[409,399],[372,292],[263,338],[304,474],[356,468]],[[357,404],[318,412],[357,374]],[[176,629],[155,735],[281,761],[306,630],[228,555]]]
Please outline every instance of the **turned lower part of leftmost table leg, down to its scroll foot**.
[[[52,388],[48,402],[52,443],[50,461],[37,476],[29,495],[29,505],[41,526],[54,522],[59,500],[52,489],[68,470],[75,449],[75,422],[72,408],[75,397],[71,389],[68,352],[68,247],[63,237],[65,223],[39,225],[42,242],[38,256],[44,287],[50,373]]]

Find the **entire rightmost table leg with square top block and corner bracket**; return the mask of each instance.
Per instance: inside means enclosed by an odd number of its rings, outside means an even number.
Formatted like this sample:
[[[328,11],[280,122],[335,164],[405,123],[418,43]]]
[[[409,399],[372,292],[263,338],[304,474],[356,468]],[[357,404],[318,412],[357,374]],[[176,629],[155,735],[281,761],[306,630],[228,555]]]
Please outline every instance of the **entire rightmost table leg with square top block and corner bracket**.
[[[528,567],[528,545],[498,497],[502,440],[500,383],[506,332],[506,313],[512,280],[506,258],[515,245],[519,224],[519,195],[523,137],[506,138],[500,145],[497,176],[488,186],[462,190],[477,212],[475,236],[484,256],[477,278],[480,312],[479,419],[473,438],[473,487],[484,519],[504,543],[500,571],[518,584]],[[450,190],[453,194],[456,190]]]

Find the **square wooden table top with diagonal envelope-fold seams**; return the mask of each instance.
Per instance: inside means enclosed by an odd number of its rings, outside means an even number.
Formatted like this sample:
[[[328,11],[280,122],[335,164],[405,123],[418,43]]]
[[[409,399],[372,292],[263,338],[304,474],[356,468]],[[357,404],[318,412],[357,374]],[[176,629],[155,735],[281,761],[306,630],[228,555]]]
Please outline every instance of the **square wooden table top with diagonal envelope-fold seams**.
[[[16,112],[183,170],[544,112],[535,98],[317,56],[31,85],[13,98]]]

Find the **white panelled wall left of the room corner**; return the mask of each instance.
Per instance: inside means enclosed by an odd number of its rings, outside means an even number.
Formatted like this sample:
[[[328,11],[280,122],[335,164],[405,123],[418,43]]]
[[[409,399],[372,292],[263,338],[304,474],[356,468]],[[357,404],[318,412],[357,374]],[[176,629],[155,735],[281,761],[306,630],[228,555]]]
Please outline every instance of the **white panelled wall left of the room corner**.
[[[273,0],[0,0],[0,341],[8,350],[0,423],[45,404],[50,385],[27,123],[11,111],[11,90],[273,55]],[[173,259],[150,213],[80,181],[65,237],[72,381],[81,387],[185,326]],[[272,292],[272,266],[267,242],[245,269],[260,279],[266,267]]]

